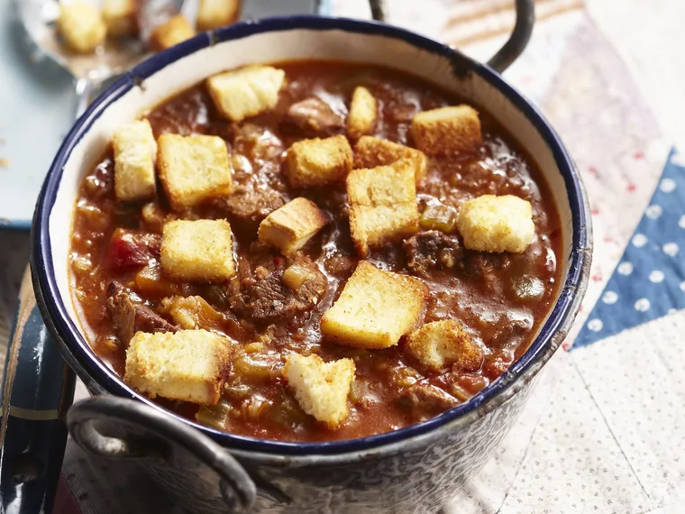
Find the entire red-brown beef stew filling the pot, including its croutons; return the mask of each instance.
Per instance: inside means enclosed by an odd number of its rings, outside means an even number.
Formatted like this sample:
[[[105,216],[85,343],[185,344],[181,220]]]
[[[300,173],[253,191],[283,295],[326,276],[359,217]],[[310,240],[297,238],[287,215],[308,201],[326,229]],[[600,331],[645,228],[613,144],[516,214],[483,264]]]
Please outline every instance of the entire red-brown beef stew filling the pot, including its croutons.
[[[452,408],[553,306],[559,218],[488,115],[338,62],[226,71],[118,127],[70,269],[95,352],[233,434],[370,436]]]

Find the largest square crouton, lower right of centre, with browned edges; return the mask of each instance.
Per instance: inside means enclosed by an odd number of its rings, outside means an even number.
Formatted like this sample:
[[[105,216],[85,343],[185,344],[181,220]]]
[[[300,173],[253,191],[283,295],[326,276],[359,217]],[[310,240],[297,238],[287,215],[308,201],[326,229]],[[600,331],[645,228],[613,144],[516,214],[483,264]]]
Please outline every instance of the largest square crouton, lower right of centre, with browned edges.
[[[427,295],[421,280],[361,261],[321,318],[321,334],[345,346],[388,348],[423,317]]]

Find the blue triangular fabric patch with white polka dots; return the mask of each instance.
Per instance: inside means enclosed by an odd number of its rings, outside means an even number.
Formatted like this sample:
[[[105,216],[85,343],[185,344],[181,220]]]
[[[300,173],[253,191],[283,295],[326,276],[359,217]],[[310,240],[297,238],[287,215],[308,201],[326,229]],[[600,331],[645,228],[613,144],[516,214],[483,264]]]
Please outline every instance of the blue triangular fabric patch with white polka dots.
[[[662,179],[573,348],[685,308],[685,156],[671,151]]]

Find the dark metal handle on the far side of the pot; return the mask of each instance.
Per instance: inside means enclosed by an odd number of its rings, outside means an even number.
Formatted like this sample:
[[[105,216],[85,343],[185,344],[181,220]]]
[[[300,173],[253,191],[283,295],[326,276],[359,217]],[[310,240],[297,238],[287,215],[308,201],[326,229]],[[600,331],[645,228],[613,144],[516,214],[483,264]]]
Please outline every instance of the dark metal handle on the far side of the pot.
[[[385,22],[387,19],[384,0],[369,0],[371,16],[374,20]],[[489,67],[502,73],[521,53],[530,41],[535,23],[534,0],[516,0],[516,25],[508,41],[488,61]]]

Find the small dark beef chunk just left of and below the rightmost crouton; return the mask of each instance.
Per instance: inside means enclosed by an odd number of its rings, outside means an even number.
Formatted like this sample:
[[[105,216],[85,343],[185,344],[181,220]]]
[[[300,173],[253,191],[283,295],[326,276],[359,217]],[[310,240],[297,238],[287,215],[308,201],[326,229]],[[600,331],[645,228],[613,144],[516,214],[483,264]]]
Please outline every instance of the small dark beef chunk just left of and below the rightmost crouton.
[[[461,259],[461,245],[455,237],[430,230],[413,235],[404,243],[407,266],[418,275],[455,267]]]

